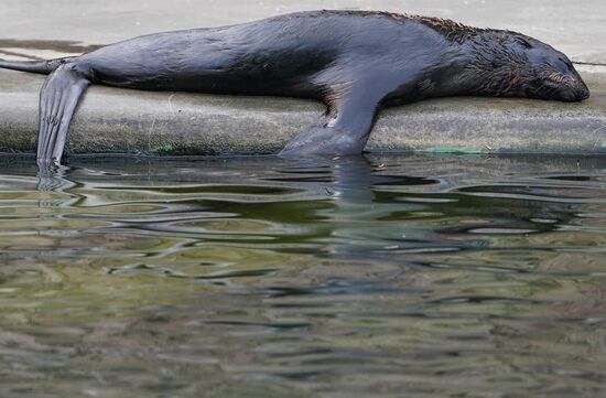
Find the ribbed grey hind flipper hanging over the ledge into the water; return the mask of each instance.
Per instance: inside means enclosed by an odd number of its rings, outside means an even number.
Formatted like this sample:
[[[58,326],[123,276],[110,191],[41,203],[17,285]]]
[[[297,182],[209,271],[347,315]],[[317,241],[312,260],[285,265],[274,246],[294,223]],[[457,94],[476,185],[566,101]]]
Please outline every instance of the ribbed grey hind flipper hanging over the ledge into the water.
[[[73,64],[57,67],[44,82],[40,93],[39,163],[61,161],[69,122],[89,85],[86,75]]]

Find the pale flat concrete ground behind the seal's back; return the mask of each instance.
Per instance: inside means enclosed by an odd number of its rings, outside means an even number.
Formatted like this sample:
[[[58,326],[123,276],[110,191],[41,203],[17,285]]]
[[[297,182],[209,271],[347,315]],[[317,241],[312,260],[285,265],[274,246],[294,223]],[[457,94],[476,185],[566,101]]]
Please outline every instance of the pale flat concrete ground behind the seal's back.
[[[0,49],[7,44],[1,39],[109,44],[159,31],[225,25],[315,9],[408,12],[510,29],[550,43],[574,61],[606,63],[606,3],[602,0],[4,0]],[[63,50],[79,51],[72,45]]]

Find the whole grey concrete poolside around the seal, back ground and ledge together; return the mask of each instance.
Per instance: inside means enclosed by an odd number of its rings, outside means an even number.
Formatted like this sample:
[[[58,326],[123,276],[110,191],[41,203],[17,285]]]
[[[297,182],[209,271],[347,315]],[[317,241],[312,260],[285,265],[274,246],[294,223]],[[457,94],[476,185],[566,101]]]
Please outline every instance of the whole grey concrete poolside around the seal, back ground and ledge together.
[[[606,63],[599,10],[538,0],[531,4],[472,0],[318,1],[312,8],[386,9],[507,28],[552,43],[574,61]],[[292,2],[151,0],[131,3],[7,0],[0,15],[0,57],[50,58],[77,54],[138,34],[241,22],[300,9]],[[316,4],[317,3],[317,4]],[[54,6],[53,6],[54,4]],[[172,3],[171,3],[172,4]],[[517,6],[516,6],[517,4]],[[599,17],[599,18],[598,18]],[[499,23],[502,22],[502,23]],[[45,37],[45,40],[40,40]],[[69,42],[68,40],[72,40]],[[78,42],[82,40],[83,42]],[[582,104],[522,99],[446,98],[383,111],[370,151],[606,153],[606,67],[578,66],[592,90]],[[0,151],[32,152],[37,138],[37,96],[44,76],[0,71]],[[67,153],[270,153],[322,112],[322,104],[268,97],[150,93],[93,86],[74,119]]]

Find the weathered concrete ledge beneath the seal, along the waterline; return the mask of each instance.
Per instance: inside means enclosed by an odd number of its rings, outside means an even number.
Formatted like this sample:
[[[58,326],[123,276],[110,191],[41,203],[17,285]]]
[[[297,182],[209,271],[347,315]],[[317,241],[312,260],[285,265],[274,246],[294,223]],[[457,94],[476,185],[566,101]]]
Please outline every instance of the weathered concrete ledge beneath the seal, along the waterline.
[[[445,98],[383,111],[369,151],[606,153],[606,68],[580,67],[582,104]],[[44,76],[0,69],[0,151],[33,152]],[[269,97],[150,93],[93,86],[67,153],[271,153],[324,110]]]

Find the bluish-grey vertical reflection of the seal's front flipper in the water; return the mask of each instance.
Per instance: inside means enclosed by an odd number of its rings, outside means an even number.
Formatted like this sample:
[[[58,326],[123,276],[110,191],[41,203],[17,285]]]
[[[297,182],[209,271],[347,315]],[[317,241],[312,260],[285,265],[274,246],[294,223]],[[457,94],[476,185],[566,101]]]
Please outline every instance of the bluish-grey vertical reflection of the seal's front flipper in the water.
[[[301,209],[313,213],[305,219],[316,220],[312,241],[323,244],[325,254],[369,258],[375,257],[377,250],[399,245],[407,236],[424,234],[414,223],[389,219],[396,212],[414,212],[421,206],[396,201],[380,203],[378,186],[404,185],[411,180],[408,176],[381,175],[385,170],[385,164],[366,157],[291,161],[280,170],[289,178],[272,181],[289,181],[296,187],[324,195],[323,208],[301,206]],[[292,178],[293,174],[296,176]],[[432,181],[420,179],[415,183],[428,184]]]

